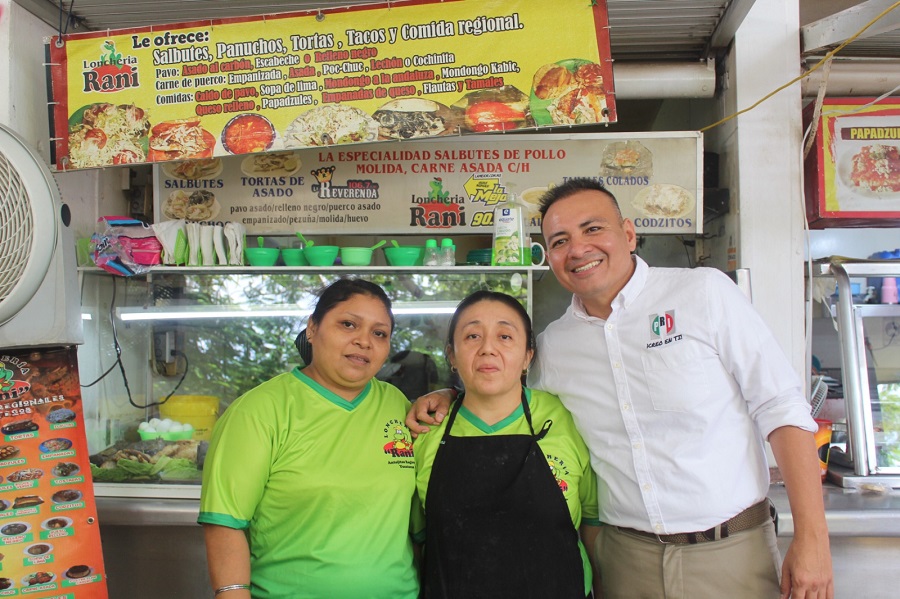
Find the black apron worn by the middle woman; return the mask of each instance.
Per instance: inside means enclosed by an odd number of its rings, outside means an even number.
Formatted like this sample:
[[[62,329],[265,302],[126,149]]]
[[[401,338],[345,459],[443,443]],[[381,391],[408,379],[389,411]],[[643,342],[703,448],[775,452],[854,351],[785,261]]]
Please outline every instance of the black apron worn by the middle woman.
[[[450,411],[425,499],[427,599],[584,599],[578,533],[531,435],[452,437]]]

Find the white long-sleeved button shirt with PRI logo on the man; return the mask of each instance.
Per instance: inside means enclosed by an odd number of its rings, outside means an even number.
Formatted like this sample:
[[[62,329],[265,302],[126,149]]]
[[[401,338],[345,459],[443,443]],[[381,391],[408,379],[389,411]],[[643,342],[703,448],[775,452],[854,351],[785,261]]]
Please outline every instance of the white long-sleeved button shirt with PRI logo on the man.
[[[634,259],[608,319],[573,297],[538,337],[529,386],[575,417],[603,522],[706,530],[766,497],[769,433],[816,424],[800,378],[725,274]]]

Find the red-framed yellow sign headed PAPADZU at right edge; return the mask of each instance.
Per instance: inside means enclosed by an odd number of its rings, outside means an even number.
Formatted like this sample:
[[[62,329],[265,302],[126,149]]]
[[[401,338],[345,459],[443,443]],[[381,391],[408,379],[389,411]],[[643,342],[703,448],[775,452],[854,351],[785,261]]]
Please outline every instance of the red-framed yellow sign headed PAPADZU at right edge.
[[[807,215],[813,226],[900,221],[900,103],[889,98],[868,105],[872,100],[825,100],[816,145],[806,161]]]

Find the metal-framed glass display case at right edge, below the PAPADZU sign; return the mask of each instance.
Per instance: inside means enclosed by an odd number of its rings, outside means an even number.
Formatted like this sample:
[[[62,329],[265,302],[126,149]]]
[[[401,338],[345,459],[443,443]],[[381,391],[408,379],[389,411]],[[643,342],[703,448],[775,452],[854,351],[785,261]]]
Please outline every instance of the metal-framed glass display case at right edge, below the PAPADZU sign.
[[[814,264],[813,276],[836,282],[848,432],[846,452],[831,448],[828,477],[843,487],[900,487],[900,305],[865,303],[873,296],[854,293],[851,281],[896,278],[900,261],[829,259]]]

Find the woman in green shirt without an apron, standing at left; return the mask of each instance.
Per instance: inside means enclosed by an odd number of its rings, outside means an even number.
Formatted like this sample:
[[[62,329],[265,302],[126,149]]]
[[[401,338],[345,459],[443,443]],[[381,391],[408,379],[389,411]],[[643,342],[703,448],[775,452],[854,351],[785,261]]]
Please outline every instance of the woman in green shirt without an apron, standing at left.
[[[309,318],[313,359],[216,424],[198,522],[218,599],[415,599],[409,402],[375,379],[391,303],[341,279]]]

